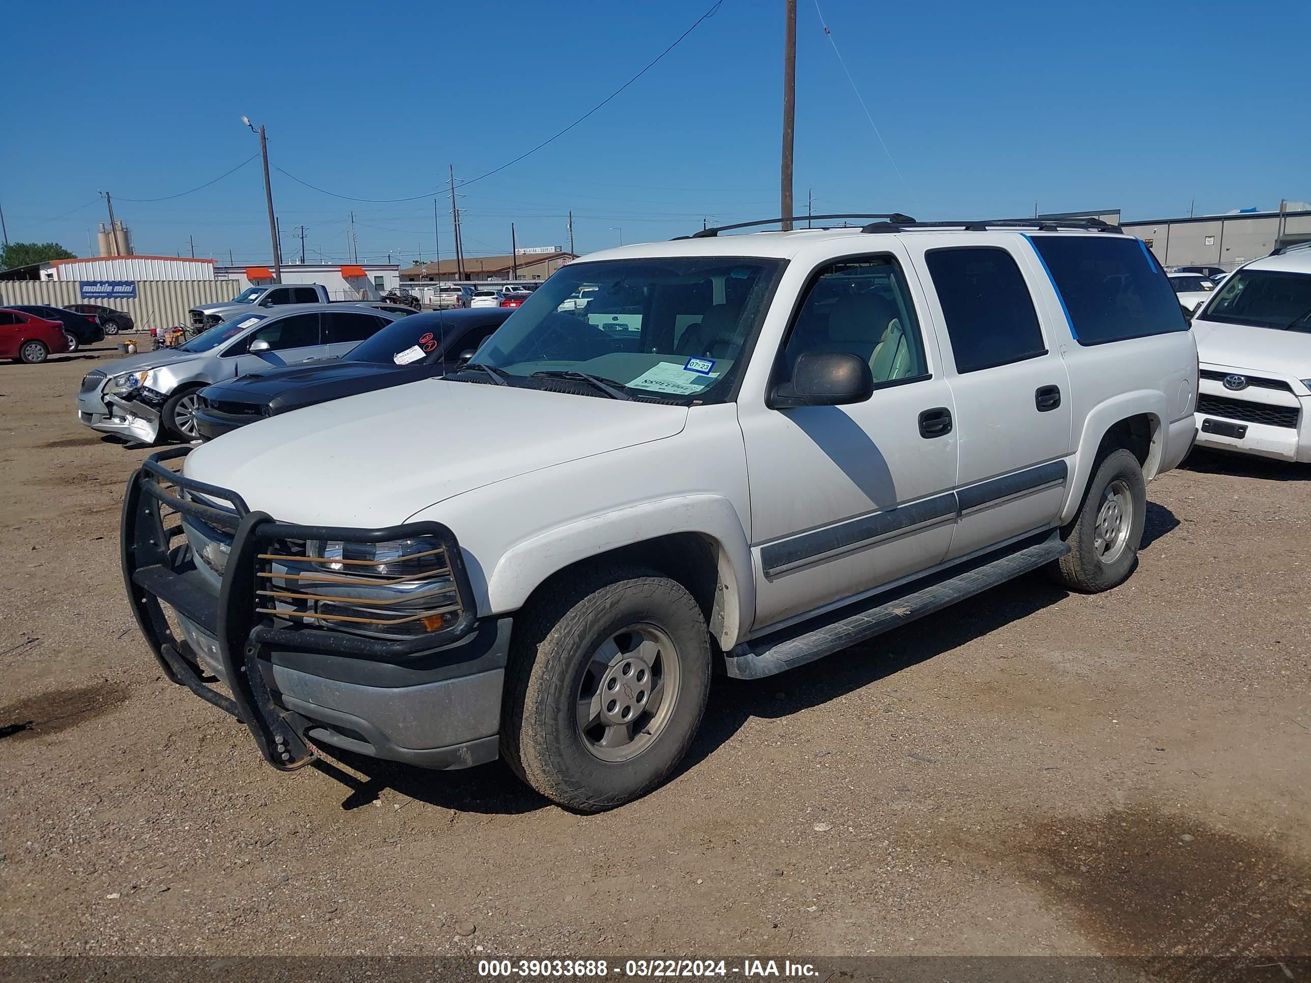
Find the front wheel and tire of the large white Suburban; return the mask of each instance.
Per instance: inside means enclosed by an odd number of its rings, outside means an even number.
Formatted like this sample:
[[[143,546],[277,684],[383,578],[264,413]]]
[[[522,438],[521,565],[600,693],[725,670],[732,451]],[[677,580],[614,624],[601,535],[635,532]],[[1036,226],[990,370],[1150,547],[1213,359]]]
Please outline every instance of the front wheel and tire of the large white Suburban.
[[[709,691],[705,619],[680,583],[635,566],[561,579],[515,625],[501,752],[551,801],[614,809],[669,777]]]

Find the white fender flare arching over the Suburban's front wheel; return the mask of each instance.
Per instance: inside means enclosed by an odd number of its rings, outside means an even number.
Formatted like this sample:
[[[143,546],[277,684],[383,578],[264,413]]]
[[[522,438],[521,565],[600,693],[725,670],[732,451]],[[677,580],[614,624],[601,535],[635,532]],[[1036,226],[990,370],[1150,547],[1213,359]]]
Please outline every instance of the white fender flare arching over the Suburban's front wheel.
[[[718,587],[711,634],[728,651],[746,637],[755,617],[755,579],[742,520],[733,503],[721,495],[641,502],[526,539],[506,549],[486,578],[489,609],[518,611],[543,581],[581,560],[688,532],[705,537],[716,548]]]

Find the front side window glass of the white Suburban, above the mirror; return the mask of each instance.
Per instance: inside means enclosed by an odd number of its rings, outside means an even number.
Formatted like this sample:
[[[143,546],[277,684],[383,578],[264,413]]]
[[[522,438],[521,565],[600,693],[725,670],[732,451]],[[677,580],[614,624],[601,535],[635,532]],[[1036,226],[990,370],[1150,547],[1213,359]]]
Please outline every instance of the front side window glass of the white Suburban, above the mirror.
[[[874,385],[927,379],[924,342],[891,258],[843,261],[814,279],[783,350],[791,375],[805,351],[846,351],[869,363]]]

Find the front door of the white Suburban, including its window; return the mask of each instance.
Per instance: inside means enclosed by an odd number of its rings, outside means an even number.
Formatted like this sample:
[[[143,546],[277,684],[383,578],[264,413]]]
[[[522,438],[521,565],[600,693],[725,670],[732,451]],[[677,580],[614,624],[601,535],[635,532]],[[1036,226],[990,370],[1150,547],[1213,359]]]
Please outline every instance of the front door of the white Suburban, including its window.
[[[756,632],[931,568],[950,545],[956,409],[894,249],[814,270],[770,381],[804,351],[847,351],[869,363],[871,398],[772,409],[767,387],[738,400]]]

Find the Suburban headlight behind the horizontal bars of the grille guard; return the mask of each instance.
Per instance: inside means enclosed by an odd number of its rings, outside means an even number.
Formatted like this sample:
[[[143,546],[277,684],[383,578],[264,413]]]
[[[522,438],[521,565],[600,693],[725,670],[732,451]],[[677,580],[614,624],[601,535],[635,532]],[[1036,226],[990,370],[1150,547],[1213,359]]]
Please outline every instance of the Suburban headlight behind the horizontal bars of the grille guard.
[[[260,558],[258,611],[374,638],[439,632],[464,613],[446,547],[437,539],[388,543],[279,541]]]

